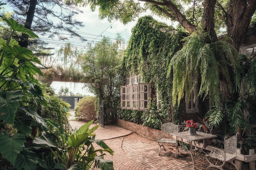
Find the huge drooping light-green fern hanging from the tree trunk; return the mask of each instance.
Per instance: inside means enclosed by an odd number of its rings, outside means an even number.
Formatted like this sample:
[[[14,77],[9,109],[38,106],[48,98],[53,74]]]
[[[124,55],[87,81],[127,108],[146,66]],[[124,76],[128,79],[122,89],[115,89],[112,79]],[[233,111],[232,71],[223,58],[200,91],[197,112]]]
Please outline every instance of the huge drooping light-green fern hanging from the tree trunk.
[[[179,103],[184,97],[184,92],[187,90],[190,94],[199,83],[198,96],[205,98],[209,95],[218,107],[221,100],[221,78],[226,80],[229,94],[234,92],[233,81],[235,87],[238,87],[236,90],[239,90],[241,82],[239,63],[234,58],[238,52],[228,42],[218,41],[209,44],[205,42],[207,39],[209,39],[208,32],[194,32],[184,39],[183,48],[171,59],[168,76],[173,69],[173,89],[175,89],[172,91],[173,103]],[[231,67],[232,73],[230,73]]]

